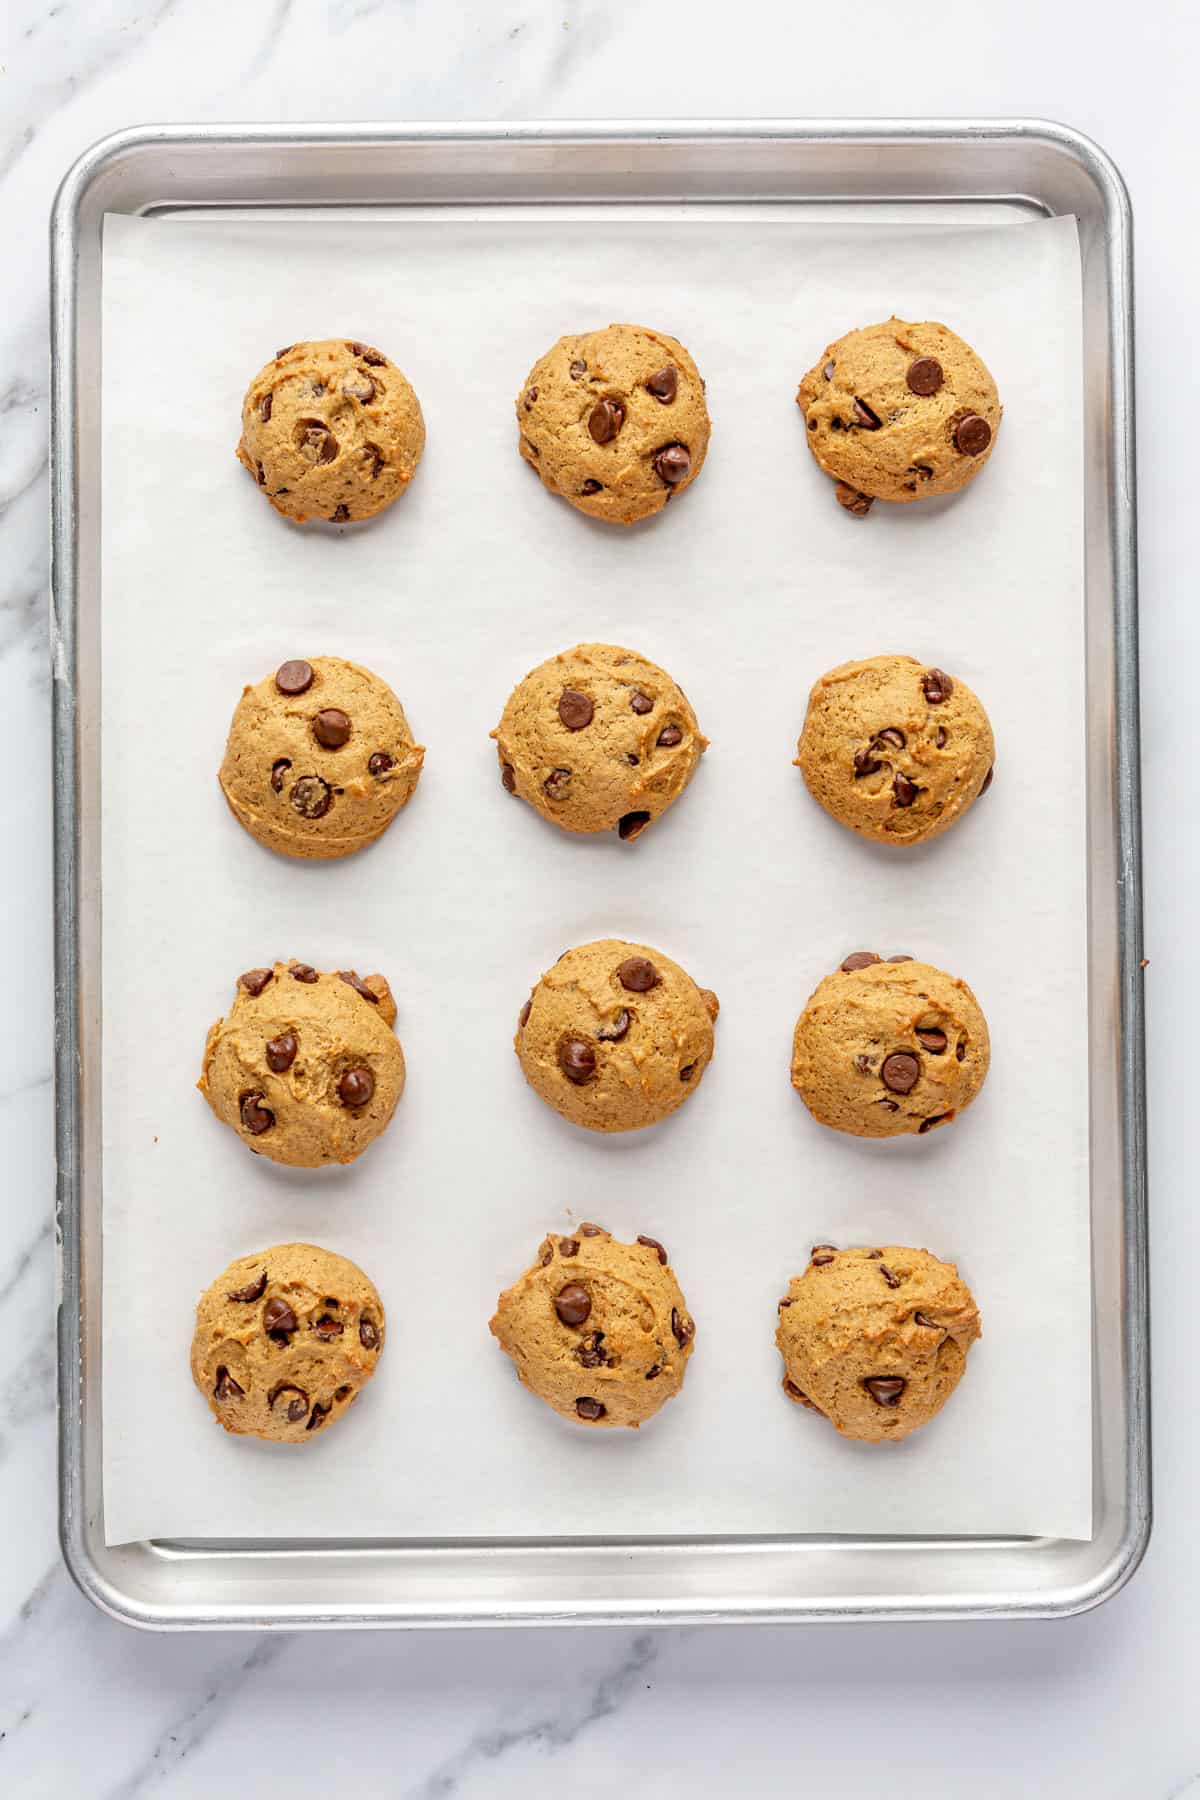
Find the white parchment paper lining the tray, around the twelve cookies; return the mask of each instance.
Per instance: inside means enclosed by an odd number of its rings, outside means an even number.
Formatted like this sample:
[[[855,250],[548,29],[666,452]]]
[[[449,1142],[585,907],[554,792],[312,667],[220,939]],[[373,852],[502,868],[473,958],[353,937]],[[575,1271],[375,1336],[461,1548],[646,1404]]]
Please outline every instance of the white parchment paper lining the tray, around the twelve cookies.
[[[842,329],[946,319],[1006,416],[964,495],[865,520],[802,441],[799,376]],[[675,331],[709,383],[703,475],[637,529],[520,463],[513,396],[565,329]],[[428,448],[376,524],[277,518],[234,461],[279,344],[347,333],[414,382]],[[214,223],[104,238],[104,1517],[151,1535],[1090,1534],[1079,266],[1074,223],[797,220]],[[525,670],[631,644],[712,749],[635,846],[545,826],[488,731]],[[855,841],[792,767],[811,680],[907,652],[997,734],[945,839]],[[372,850],[252,842],[216,769],[243,682],[284,657],[378,670],[428,745]],[[721,999],[703,1087],[666,1125],[560,1121],[511,1049],[570,943],[657,945]],[[788,1084],[792,1026],[853,949],[964,976],[988,1085],[930,1138],[858,1143]],[[408,1089],[354,1166],[248,1156],[194,1091],[239,970],[383,970]],[[640,1433],[563,1422],[488,1336],[547,1228],[662,1238],[698,1319]],[[241,1253],[327,1244],[376,1280],[389,1348],[304,1449],[227,1438],[194,1391],[200,1291]],[[813,1242],[955,1258],[984,1337],[900,1447],[842,1442],[779,1391],[775,1298]]]

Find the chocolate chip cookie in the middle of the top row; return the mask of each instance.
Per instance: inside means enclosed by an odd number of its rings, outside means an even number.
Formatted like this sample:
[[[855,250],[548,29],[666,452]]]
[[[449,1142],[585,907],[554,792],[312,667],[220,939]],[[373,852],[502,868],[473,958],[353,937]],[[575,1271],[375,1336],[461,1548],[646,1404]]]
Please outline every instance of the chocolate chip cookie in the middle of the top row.
[[[631,526],[689,488],[709,409],[684,346],[646,326],[560,338],[516,396],[520,454],[581,513]]]

